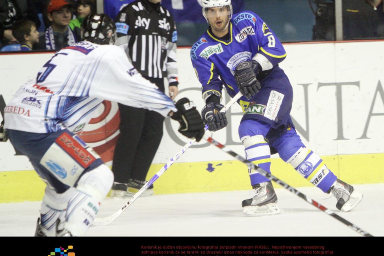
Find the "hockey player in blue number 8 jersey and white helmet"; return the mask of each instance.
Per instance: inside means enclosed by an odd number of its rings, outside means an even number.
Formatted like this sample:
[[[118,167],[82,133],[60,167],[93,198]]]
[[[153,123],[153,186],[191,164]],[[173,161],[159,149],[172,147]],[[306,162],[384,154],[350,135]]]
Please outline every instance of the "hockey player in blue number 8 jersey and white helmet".
[[[238,128],[249,161],[270,172],[271,153],[291,164],[301,176],[333,193],[336,208],[350,211],[362,199],[353,186],[339,180],[323,160],[306,148],[290,118],[293,90],[278,63],[286,52],[275,33],[253,12],[232,14],[231,0],[202,0],[209,29],[192,46],[191,60],[202,84],[204,122],[210,131],[227,126],[225,113],[215,114],[223,105],[222,87],[238,100],[244,115]],[[280,213],[270,180],[250,170],[255,196],[242,202],[250,216]],[[262,207],[263,206],[263,207]]]

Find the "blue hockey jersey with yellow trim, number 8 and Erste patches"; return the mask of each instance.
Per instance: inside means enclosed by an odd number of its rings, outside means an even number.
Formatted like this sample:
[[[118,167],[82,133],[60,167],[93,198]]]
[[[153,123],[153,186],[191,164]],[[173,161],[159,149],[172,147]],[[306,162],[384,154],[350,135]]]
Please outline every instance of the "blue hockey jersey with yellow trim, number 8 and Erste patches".
[[[275,67],[286,57],[283,45],[275,33],[253,12],[244,11],[233,15],[227,42],[207,30],[190,52],[192,65],[202,84],[203,99],[207,99],[209,91],[221,95],[223,85],[231,97],[235,96],[239,91],[233,76],[236,66],[240,62],[252,60],[257,53],[268,59],[270,67]],[[242,96],[238,102],[245,111],[250,101]]]

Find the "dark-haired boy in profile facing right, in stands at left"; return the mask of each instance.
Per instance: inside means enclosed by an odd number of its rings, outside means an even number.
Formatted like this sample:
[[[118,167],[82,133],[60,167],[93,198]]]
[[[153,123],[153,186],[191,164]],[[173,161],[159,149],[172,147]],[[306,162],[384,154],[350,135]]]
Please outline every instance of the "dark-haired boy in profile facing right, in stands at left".
[[[31,51],[33,45],[39,42],[39,32],[35,22],[31,20],[20,20],[12,27],[12,32],[17,41],[21,44],[21,51]]]

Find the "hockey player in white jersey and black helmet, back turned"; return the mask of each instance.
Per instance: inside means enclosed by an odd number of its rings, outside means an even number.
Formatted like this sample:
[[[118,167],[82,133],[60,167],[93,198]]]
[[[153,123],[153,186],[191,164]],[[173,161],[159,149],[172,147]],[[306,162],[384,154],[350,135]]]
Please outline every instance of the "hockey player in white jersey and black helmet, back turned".
[[[171,116],[180,133],[197,141],[204,134],[193,103],[182,98],[174,104],[137,72],[115,38],[111,18],[89,15],[84,41],[55,53],[5,107],[8,138],[47,184],[36,236],[83,235],[112,186],[111,170],[73,133],[103,100]]]

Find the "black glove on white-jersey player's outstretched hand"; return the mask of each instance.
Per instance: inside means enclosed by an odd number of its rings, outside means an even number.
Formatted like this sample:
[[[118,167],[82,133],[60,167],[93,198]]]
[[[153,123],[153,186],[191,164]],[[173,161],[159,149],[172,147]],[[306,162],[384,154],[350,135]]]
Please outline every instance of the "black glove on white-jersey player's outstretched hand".
[[[187,98],[182,98],[176,102],[175,106],[177,112],[170,118],[179,121],[179,132],[188,138],[200,141],[205,132],[205,125],[194,103]]]

